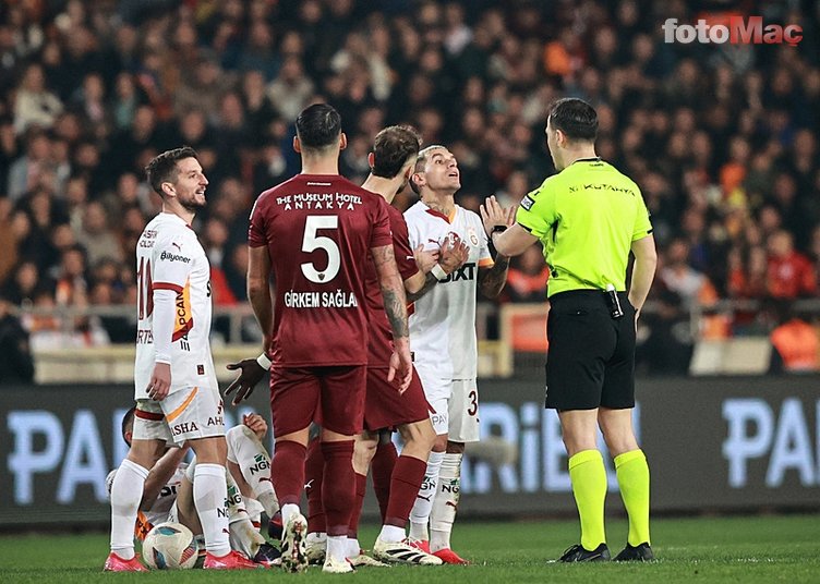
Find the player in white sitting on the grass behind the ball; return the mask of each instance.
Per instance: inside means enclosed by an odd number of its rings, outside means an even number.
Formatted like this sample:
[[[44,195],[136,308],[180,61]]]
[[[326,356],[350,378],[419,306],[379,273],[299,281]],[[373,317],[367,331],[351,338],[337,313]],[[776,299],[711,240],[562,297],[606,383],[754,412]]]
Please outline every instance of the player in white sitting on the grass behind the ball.
[[[134,411],[135,407],[132,407],[122,418],[122,439],[129,446]],[[279,507],[270,484],[270,457],[262,446],[266,433],[265,419],[258,414],[251,414],[226,434],[231,548],[263,564],[278,557],[278,550],[260,534],[262,512],[273,516]],[[148,473],[134,527],[137,540],[142,542],[155,525],[172,521],[190,528],[196,535],[200,549],[204,550],[203,530],[193,498],[196,459],[190,464],[184,462],[189,451],[186,443],[181,448],[169,448]],[[117,469],[106,478],[109,494],[116,475]]]

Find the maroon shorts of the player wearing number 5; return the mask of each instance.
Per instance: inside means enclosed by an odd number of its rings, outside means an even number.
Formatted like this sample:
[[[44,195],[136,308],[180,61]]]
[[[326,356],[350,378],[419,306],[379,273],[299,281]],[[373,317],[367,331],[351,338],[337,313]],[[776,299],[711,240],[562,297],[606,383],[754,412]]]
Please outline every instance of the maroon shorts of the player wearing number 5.
[[[354,436],[362,431],[367,367],[274,367],[270,412],[274,437],[311,425]]]

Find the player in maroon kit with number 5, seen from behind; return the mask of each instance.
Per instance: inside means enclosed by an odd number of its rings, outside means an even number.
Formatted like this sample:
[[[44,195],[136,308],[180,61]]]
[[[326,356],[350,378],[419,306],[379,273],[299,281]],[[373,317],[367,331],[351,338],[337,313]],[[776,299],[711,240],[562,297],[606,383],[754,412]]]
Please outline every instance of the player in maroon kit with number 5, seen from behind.
[[[305,108],[293,148],[302,172],[265,191],[251,211],[248,294],[273,361],[270,407],[276,449],[274,489],[281,504],[282,565],[306,565],[306,520],[299,500],[311,422],[322,425],[322,500],[327,516],[326,572],[346,559],[355,497],[353,437],[362,430],[367,364],[365,270],[375,265],[390,324],[388,380],[403,392],[412,378],[405,288],[394,257],[387,204],[338,173],[347,145],[330,106]],[[269,279],[276,281],[275,308]]]

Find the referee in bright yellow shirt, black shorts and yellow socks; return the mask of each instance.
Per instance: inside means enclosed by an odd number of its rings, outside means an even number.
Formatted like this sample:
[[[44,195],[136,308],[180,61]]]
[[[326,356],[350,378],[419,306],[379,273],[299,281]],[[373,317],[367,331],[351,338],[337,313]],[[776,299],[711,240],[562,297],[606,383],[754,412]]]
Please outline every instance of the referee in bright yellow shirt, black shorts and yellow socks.
[[[596,425],[615,460],[629,535],[615,560],[653,559],[649,466],[632,430],[635,336],[654,277],[652,226],[640,190],[595,156],[598,114],[580,99],[553,104],[546,144],[557,174],[521,200],[509,228],[494,197],[482,207],[497,253],[541,241],[550,266],[546,407],[558,411],[581,520],[581,542],[560,560],[610,559],[604,534],[606,472]],[[626,291],[629,253],[635,255]]]

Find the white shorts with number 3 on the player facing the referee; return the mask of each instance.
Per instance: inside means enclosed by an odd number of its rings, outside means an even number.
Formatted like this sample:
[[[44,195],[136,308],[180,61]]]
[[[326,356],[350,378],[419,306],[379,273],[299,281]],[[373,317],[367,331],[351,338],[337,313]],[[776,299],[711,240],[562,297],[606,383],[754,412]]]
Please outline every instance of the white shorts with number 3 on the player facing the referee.
[[[475,379],[442,379],[415,366],[424,396],[433,407],[430,419],[436,435],[454,442],[479,441],[479,389]]]

